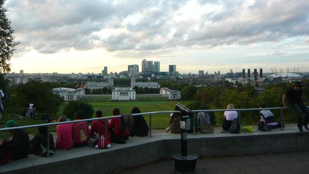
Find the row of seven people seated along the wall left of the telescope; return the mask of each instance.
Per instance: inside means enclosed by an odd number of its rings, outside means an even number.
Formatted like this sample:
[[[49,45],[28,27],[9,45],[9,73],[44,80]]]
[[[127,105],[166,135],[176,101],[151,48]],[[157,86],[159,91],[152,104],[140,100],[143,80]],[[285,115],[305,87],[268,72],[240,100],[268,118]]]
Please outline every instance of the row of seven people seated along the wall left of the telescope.
[[[112,111],[114,116],[120,115],[120,110],[114,108]],[[137,107],[132,109],[132,114],[141,113]],[[96,111],[95,116],[100,118],[103,116],[102,111]],[[73,147],[93,146],[89,144],[89,139],[104,135],[110,142],[124,144],[129,136],[147,136],[149,127],[142,115],[132,116],[132,127],[123,128],[123,116],[107,119],[97,119],[91,122],[89,128],[88,122],[75,122],[59,124],[56,127],[58,137],[54,143],[53,135],[47,135],[46,127],[39,127],[39,134],[33,139],[29,139],[27,132],[23,129],[9,130],[13,135],[12,140],[4,141],[0,139],[0,165],[8,163],[9,160],[17,160],[26,157],[28,154],[41,156],[53,155],[56,150],[66,151]],[[77,111],[74,120],[82,120],[84,114]],[[60,116],[58,122],[66,122],[66,116]],[[7,121],[6,128],[18,127],[14,120]],[[47,137],[49,136],[49,152],[47,152]],[[94,138],[95,139],[95,138]]]

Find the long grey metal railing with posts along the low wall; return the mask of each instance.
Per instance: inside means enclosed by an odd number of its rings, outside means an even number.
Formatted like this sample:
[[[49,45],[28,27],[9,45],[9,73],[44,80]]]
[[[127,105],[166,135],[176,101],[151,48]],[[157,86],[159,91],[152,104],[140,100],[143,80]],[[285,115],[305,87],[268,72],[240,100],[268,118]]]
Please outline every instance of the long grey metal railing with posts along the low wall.
[[[192,110],[193,113],[197,112],[220,112],[220,111],[237,111],[238,117],[241,121],[241,112],[242,111],[256,111],[256,110],[279,110],[280,109],[280,117],[281,117],[281,130],[283,130],[283,110],[285,110],[284,107],[277,107],[277,108],[250,108],[250,109],[215,109],[215,110]],[[153,114],[164,114],[164,113],[179,113],[179,111],[157,111],[157,112],[147,112],[147,113],[138,113],[138,114],[132,114],[132,116],[139,116],[139,115],[149,115],[149,137],[152,137],[152,115]],[[35,127],[43,127],[46,126],[47,128],[47,156],[49,156],[49,126],[52,125],[60,125],[60,124],[68,124],[68,123],[77,123],[77,122],[87,122],[87,121],[93,121],[93,120],[99,120],[99,119],[110,119],[110,118],[116,118],[121,116],[106,116],[106,117],[99,117],[99,118],[89,118],[89,119],[82,119],[82,120],[72,120],[72,121],[64,121],[64,122],[55,122],[55,123],[44,123],[44,124],[35,124],[35,125],[28,125],[28,126],[18,126],[18,127],[11,127],[11,128],[0,128],[0,131],[9,131],[9,130],[16,130],[16,129],[25,129],[25,128],[35,128]],[[196,121],[193,119],[193,134],[195,134],[195,124]],[[107,124],[106,124],[107,129]]]

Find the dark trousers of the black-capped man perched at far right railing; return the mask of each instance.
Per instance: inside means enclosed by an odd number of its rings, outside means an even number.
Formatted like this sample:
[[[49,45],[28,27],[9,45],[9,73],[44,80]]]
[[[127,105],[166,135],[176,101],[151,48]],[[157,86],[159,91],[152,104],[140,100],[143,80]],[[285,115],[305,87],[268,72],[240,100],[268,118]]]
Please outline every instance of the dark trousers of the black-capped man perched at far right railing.
[[[308,124],[309,122],[309,110],[306,107],[306,105],[303,102],[298,102],[298,103],[292,103],[291,107],[295,110],[297,114],[297,127],[301,128],[303,125]],[[306,114],[305,119],[304,119],[304,124],[303,122],[303,113]]]

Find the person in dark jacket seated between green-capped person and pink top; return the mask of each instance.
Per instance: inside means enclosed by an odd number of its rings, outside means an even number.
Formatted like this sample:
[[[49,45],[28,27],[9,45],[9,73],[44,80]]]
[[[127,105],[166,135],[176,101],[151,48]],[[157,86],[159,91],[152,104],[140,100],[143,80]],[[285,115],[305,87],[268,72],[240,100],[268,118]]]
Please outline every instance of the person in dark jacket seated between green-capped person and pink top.
[[[49,133],[49,155],[55,153],[54,137]],[[30,154],[47,155],[47,128],[39,127],[39,134],[35,135],[30,141]]]

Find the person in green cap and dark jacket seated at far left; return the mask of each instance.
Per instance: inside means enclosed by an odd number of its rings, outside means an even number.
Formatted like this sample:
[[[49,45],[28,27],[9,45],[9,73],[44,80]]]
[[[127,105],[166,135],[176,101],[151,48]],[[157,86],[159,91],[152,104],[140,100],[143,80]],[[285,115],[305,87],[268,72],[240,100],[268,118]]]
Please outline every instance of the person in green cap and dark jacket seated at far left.
[[[5,127],[17,127],[17,124],[14,120],[9,120],[6,122]],[[10,160],[17,160],[26,157],[30,152],[30,141],[27,132],[23,129],[9,131],[13,135],[13,138],[10,141],[3,141],[3,139],[0,139],[1,148],[10,151]]]

